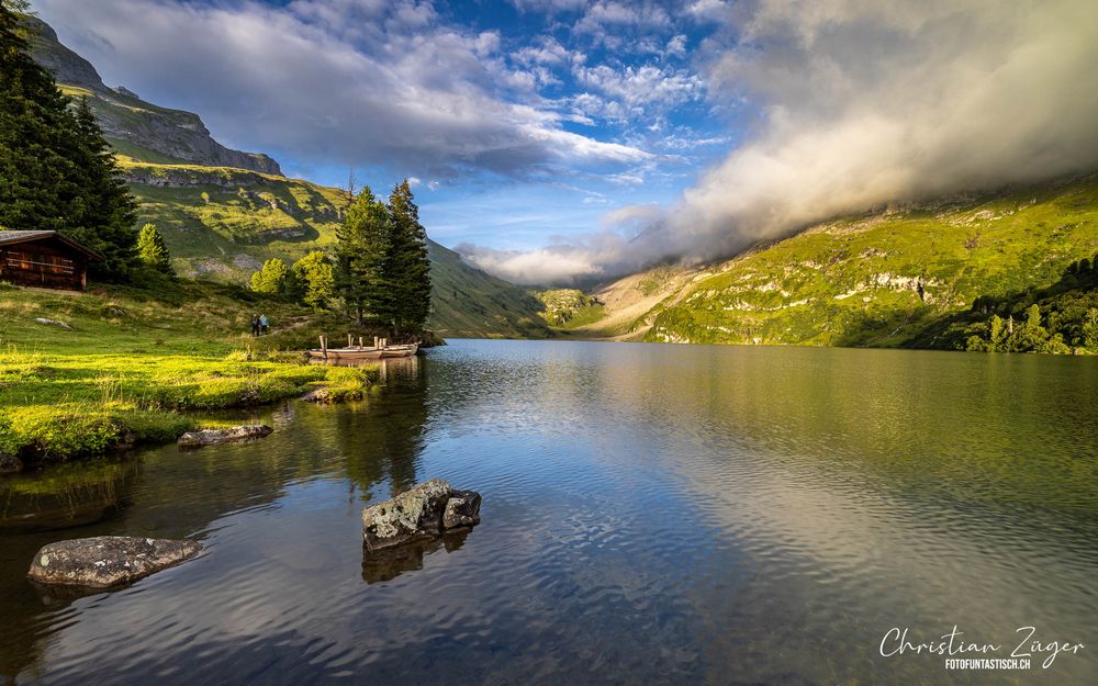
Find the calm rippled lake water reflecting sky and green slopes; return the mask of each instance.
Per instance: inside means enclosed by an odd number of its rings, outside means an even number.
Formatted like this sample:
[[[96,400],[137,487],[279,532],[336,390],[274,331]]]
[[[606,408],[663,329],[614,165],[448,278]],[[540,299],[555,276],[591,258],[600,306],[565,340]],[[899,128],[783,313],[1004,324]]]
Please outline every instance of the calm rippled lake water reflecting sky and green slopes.
[[[0,682],[1098,683],[1098,361],[463,341],[258,442],[0,477]],[[429,477],[463,539],[363,555],[359,513]],[[34,552],[193,537],[66,597]],[[1049,668],[879,654],[957,626]],[[968,655],[971,656],[971,655]]]

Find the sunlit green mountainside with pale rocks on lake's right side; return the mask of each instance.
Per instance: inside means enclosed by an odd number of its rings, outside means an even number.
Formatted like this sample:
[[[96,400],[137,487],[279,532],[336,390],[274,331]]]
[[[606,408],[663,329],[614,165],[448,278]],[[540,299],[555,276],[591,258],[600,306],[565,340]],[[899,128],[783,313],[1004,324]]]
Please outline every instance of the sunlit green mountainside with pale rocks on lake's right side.
[[[1024,294],[1061,282],[1074,261],[1096,252],[1093,173],[884,207],[724,262],[653,268],[596,290],[605,315],[579,333],[661,342],[957,347],[943,331],[977,299],[1038,302]]]

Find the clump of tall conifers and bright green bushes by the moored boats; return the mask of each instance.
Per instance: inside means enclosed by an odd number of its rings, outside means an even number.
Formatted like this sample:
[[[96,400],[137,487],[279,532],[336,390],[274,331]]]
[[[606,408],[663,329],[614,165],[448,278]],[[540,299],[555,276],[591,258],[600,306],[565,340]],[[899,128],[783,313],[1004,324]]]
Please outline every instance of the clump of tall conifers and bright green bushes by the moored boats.
[[[430,314],[430,262],[411,184],[397,183],[388,202],[369,187],[348,196],[332,255],[314,250],[292,266],[269,259],[251,274],[253,290],[338,310],[396,335],[422,329]]]

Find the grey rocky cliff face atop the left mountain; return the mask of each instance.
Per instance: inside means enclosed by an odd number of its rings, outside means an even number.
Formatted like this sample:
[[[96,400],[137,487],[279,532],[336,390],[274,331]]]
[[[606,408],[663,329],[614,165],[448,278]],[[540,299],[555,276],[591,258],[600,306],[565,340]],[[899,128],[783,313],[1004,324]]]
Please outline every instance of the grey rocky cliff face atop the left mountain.
[[[35,36],[34,58],[54,72],[63,90],[89,98],[103,134],[120,151],[146,161],[235,167],[281,176],[279,164],[267,155],[232,150],[214,140],[199,115],[159,108],[125,88],[108,88],[91,63],[61,45],[48,24],[35,18],[29,18],[27,23]]]

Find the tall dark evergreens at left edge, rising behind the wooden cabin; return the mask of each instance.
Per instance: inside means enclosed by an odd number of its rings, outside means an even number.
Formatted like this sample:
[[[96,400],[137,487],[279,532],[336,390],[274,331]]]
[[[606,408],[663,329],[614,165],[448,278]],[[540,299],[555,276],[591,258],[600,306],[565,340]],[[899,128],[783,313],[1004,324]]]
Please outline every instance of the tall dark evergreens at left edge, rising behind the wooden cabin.
[[[31,58],[22,10],[0,1],[0,225],[63,232],[107,258],[94,272],[125,278],[134,201],[90,110]]]

